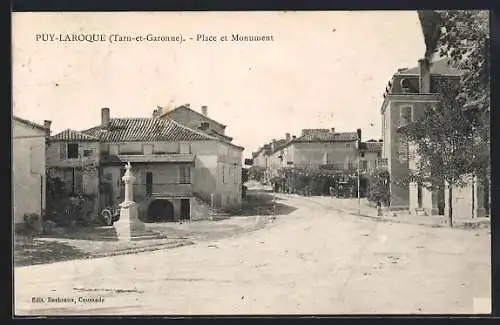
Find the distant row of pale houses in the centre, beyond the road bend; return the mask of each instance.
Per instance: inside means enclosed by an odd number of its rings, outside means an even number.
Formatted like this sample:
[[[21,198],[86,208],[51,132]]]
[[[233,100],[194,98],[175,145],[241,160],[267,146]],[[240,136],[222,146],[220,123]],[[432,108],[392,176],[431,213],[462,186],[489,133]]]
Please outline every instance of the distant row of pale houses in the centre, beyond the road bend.
[[[285,134],[273,139],[252,154],[253,166],[266,171],[266,177],[283,169],[299,168],[354,172],[369,171],[383,164],[382,140],[360,142],[361,129],[336,132],[331,129],[302,129],[300,136]]]

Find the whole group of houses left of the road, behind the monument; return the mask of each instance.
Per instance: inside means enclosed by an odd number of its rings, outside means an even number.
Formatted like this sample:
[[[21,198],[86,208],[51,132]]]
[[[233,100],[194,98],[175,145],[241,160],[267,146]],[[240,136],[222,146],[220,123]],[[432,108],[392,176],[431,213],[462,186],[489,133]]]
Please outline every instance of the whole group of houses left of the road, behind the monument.
[[[208,216],[209,207],[241,205],[243,147],[226,125],[189,104],[158,107],[149,118],[113,118],[50,135],[45,125],[13,118],[13,209],[15,223],[46,209],[47,180],[60,180],[68,195],[94,198],[94,213],[124,198],[121,177],[130,162],[139,217],[175,221]],[[38,185],[35,185],[38,184]]]

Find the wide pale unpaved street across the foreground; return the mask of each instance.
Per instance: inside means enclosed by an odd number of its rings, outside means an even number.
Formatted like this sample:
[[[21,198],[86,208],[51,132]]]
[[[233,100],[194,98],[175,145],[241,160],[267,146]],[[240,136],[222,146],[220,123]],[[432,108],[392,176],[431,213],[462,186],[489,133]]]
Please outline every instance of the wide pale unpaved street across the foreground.
[[[375,222],[281,197],[297,209],[234,238],[18,267],[16,315],[489,312],[488,229]]]

